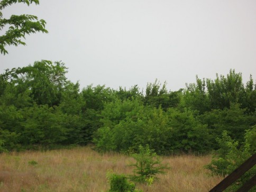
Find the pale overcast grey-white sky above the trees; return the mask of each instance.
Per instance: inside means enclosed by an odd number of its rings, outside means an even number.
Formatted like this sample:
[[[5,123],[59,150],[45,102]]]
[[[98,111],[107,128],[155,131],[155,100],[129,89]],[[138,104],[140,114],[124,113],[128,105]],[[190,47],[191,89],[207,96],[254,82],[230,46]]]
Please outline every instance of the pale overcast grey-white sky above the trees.
[[[6,47],[1,74],[44,59],[64,62],[81,88],[145,88],[157,78],[175,91],[230,69],[256,79],[255,0],[40,0],[4,8],[13,14],[44,19],[49,33]]]

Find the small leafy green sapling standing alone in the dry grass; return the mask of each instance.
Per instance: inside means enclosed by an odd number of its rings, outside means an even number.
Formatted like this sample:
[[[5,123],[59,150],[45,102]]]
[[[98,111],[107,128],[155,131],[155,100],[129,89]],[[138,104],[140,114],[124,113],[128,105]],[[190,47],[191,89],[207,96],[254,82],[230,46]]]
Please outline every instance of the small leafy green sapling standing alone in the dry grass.
[[[157,178],[156,175],[163,174],[165,169],[169,169],[161,163],[157,153],[153,152],[149,145],[145,147],[139,145],[138,152],[131,154],[131,157],[136,161],[134,164],[130,164],[130,166],[135,167],[133,170],[134,175],[131,176],[134,181],[152,184],[153,180]]]

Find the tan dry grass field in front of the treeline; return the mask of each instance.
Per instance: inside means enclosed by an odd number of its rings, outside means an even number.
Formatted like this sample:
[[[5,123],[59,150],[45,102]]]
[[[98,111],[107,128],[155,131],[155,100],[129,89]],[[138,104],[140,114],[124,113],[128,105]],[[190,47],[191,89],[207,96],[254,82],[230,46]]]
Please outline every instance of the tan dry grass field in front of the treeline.
[[[38,164],[31,165],[29,161]],[[131,158],[122,154],[99,154],[90,147],[0,154],[0,191],[107,191],[106,173],[131,174]],[[177,156],[163,158],[170,170],[160,175],[150,191],[209,191],[221,181],[209,177],[203,166],[210,156]],[[146,186],[138,185],[145,190]]]

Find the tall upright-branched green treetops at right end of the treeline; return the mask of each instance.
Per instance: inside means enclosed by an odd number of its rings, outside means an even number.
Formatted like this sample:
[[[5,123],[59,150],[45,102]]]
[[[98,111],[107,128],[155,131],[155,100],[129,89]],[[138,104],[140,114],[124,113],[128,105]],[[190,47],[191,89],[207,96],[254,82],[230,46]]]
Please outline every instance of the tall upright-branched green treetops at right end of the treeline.
[[[230,108],[232,103],[239,103],[247,108],[248,113],[255,111],[255,84],[252,77],[243,85],[241,73],[231,69],[224,76],[216,74],[216,79],[199,79],[196,76],[196,84],[187,84],[184,92],[184,105],[199,111],[200,114],[211,109]]]

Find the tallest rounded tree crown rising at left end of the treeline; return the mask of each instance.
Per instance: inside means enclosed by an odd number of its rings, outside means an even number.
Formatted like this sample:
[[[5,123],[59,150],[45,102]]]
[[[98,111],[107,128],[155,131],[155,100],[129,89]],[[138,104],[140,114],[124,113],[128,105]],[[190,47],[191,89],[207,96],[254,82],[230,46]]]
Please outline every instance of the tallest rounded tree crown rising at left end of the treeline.
[[[4,93],[12,85],[17,91],[16,97],[22,93],[27,94],[38,105],[59,105],[63,89],[68,83],[66,73],[67,68],[62,62],[35,61],[33,66],[6,69],[0,75],[0,88]]]

